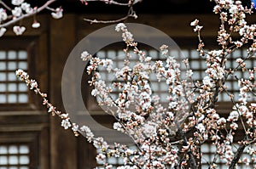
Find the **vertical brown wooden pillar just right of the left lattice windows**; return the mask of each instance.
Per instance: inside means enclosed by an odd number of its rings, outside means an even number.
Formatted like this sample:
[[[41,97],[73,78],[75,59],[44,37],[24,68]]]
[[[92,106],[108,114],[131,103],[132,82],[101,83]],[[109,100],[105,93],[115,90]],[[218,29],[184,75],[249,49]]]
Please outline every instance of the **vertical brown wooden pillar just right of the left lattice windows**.
[[[61,20],[49,21],[49,99],[62,110],[61,76],[66,59],[76,42],[76,17],[65,14]],[[50,169],[77,168],[77,138],[73,132],[61,127],[61,120],[50,117]]]

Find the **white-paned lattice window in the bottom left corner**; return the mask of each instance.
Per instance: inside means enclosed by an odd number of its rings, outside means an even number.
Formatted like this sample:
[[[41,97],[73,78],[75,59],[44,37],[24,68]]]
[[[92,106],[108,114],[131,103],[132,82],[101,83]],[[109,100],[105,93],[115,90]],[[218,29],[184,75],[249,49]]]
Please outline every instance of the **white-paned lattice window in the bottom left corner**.
[[[0,145],[0,169],[29,169],[28,144]]]

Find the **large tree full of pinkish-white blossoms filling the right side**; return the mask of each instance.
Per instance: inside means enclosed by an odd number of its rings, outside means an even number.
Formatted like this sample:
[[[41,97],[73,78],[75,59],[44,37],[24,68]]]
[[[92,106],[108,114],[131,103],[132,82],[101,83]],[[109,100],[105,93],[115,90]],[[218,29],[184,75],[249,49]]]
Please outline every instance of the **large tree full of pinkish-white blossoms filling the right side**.
[[[86,2],[85,2],[86,3]],[[246,61],[254,59],[256,51],[256,25],[247,23],[247,14],[251,8],[243,7],[241,1],[215,0],[213,9],[219,15],[218,49],[207,51],[201,37],[203,26],[200,20],[191,23],[197,33],[198,52],[205,60],[206,76],[195,81],[193,70],[189,68],[189,59],[183,60],[186,67],[186,78],[181,75],[181,65],[175,56],[170,55],[168,47],[160,47],[165,60],[152,61],[144,51],[137,47],[136,37],[125,24],[116,25],[126,44],[126,58],[122,68],[113,67],[113,60],[92,56],[88,52],[81,54],[81,59],[90,62],[87,73],[92,75],[90,85],[94,87],[91,94],[99,98],[99,104],[108,107],[105,111],[113,115],[116,122],[113,129],[129,135],[137,149],[125,144],[108,144],[102,137],[95,137],[89,127],[79,126],[67,113],[56,110],[49,103],[47,94],[42,93],[38,83],[32,80],[23,70],[16,75],[26,82],[35,93],[44,100],[49,113],[59,115],[61,126],[71,128],[76,136],[82,133],[89,143],[100,149],[97,161],[106,161],[108,157],[122,158],[122,168],[200,168],[202,144],[212,144],[216,151],[213,158],[207,161],[209,168],[218,168],[218,160],[225,162],[227,168],[236,168],[238,163],[256,168],[256,103],[255,100],[256,67],[247,68]],[[228,68],[230,54],[240,48],[247,48],[246,57],[236,58],[236,65]],[[131,53],[139,60],[131,65]],[[117,79],[108,85],[101,77],[99,67],[112,73]],[[240,71],[247,77],[238,78]],[[159,82],[168,86],[168,105],[160,103],[160,95],[154,93],[149,75],[154,74]],[[226,82],[233,77],[240,87],[239,98],[234,97]],[[113,90],[117,88],[117,99],[113,99]],[[218,96],[226,94],[233,104],[233,110],[224,116],[217,110]],[[114,109],[113,109],[114,108]],[[242,129],[242,138],[236,138],[238,128]],[[242,158],[247,154],[250,158]],[[105,168],[112,166],[105,163]]]

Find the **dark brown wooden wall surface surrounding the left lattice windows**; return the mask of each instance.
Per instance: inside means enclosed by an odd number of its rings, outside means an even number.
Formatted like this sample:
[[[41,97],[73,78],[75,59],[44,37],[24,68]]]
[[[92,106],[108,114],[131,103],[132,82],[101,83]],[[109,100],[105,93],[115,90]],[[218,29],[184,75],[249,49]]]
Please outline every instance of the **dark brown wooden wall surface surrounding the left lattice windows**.
[[[90,18],[96,17],[97,15],[90,15]],[[104,16],[106,19],[112,17],[118,16]],[[198,16],[193,14],[143,14],[137,20],[128,20],[128,22],[151,25],[171,37],[189,37],[196,42],[196,34],[189,26],[195,18],[201,19],[201,23],[205,25],[202,36],[214,38],[218,31],[218,16],[211,14]],[[28,29],[24,36],[19,38],[33,38],[32,43],[36,45],[36,53],[33,70],[30,72],[33,78],[38,80],[42,90],[49,93],[51,103],[55,104],[58,110],[65,111],[61,99],[61,76],[66,59],[79,40],[104,25],[90,25],[90,23],[84,22],[82,15],[76,14],[65,14],[61,20],[53,20],[49,15],[41,15],[38,17],[38,21],[41,22],[42,27],[32,30],[30,28],[32,20],[25,20],[24,24]],[[108,37],[108,35],[102,36]],[[7,32],[6,37],[16,38],[11,31]],[[31,98],[34,100],[34,106],[29,111],[11,113],[11,111],[0,107],[0,144],[12,138],[19,138],[23,134],[24,139],[36,139],[37,168],[84,169],[95,167],[95,149],[91,144],[88,144],[83,137],[74,137],[70,130],[64,130],[61,127],[60,119],[48,115],[47,109],[41,105],[41,99],[38,96],[31,94]],[[108,116],[103,114],[95,116],[108,126]]]

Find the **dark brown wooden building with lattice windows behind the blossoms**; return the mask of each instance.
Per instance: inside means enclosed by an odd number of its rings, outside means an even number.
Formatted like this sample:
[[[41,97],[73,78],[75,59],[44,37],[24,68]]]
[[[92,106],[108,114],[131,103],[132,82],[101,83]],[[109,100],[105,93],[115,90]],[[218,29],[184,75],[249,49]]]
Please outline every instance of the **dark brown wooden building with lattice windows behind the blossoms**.
[[[202,37],[206,45],[216,47],[219,20],[218,15],[212,14],[212,3],[207,0],[207,3],[189,0],[161,0],[163,3],[147,1],[143,0],[135,7],[137,20],[125,22],[151,25],[164,31],[180,48],[192,54],[198,40],[189,25],[197,18],[204,25]],[[65,111],[61,98],[61,78],[67,57],[81,39],[106,26],[91,25],[84,21],[84,17],[113,20],[126,14],[126,8],[102,3],[83,7],[79,1],[73,0],[57,3],[64,8],[61,20],[52,19],[47,12],[38,14],[40,28],[32,29],[30,18],[22,21],[27,28],[23,36],[16,37],[9,27],[6,35],[0,38],[1,169],[84,169],[96,166],[96,149],[85,138],[76,138],[72,131],[64,130],[60,119],[49,115],[42,105],[42,99],[15,79],[15,69],[27,70],[38,81],[41,90],[48,93],[50,102],[58,110]],[[256,21],[255,17],[251,17],[251,20]],[[194,58],[192,61],[200,63],[201,59]],[[201,65],[195,64],[195,69],[198,75],[203,71]],[[90,91],[84,90],[84,97],[84,103],[91,107],[89,110],[93,118],[111,127],[113,118],[97,108],[95,110],[96,101],[86,98],[90,97]]]

